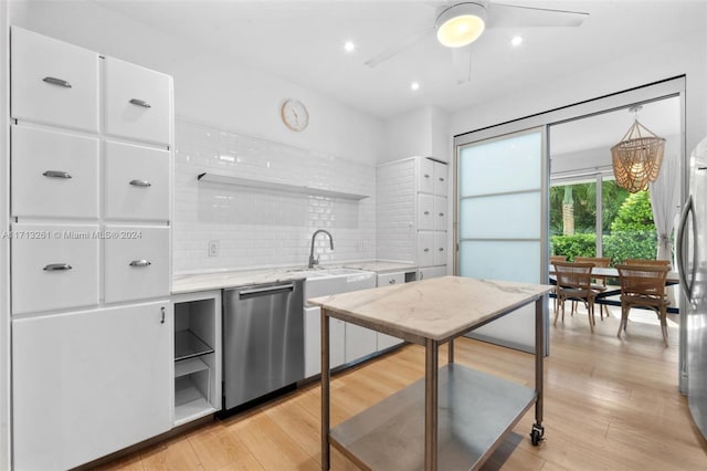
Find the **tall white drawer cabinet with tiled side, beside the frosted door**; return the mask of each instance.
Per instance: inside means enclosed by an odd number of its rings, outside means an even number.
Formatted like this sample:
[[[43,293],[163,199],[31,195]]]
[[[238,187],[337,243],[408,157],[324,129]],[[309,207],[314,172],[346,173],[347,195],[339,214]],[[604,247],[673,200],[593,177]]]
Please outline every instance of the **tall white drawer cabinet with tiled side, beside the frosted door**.
[[[378,167],[378,258],[415,263],[420,280],[446,274],[447,175],[447,164],[432,157]]]

